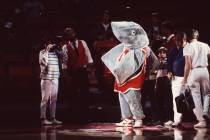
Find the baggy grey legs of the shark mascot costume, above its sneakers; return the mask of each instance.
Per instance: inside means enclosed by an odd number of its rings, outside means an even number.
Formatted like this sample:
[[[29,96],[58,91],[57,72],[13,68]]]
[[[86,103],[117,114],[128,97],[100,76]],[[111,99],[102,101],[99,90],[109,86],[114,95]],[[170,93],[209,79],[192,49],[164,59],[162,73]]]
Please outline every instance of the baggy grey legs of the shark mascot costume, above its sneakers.
[[[143,119],[144,113],[141,106],[141,93],[139,90],[129,90],[125,94],[119,93],[120,109],[123,119]]]

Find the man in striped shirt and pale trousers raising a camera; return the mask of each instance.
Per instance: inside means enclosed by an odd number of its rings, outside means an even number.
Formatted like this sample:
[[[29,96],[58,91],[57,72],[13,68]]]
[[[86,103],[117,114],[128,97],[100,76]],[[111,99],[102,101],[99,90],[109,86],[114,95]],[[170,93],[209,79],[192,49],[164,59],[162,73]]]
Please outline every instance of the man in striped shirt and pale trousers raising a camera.
[[[45,49],[39,53],[42,92],[40,118],[42,125],[62,124],[61,121],[56,120],[55,114],[61,63],[65,62],[66,54],[52,42],[53,39],[48,38]],[[50,102],[51,121],[46,117],[48,101]]]

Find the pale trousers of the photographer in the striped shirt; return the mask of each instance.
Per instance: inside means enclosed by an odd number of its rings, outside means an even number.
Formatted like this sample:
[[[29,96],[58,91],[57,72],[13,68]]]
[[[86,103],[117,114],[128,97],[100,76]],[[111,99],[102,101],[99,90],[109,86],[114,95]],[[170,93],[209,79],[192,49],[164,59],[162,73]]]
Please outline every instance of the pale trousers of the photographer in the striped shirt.
[[[41,80],[42,100],[40,105],[40,118],[46,118],[47,104],[50,101],[50,117],[55,118],[56,101],[58,94],[58,79]]]

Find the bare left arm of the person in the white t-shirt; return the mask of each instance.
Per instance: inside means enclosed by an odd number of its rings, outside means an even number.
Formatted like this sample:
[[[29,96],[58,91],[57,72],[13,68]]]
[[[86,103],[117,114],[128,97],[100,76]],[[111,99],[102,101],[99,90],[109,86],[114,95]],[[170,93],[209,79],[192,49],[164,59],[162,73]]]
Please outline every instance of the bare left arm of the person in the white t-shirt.
[[[184,78],[182,81],[182,84],[185,85],[187,83],[187,79],[190,73],[190,70],[192,69],[192,60],[191,57],[186,55],[185,56],[185,67],[184,67]]]

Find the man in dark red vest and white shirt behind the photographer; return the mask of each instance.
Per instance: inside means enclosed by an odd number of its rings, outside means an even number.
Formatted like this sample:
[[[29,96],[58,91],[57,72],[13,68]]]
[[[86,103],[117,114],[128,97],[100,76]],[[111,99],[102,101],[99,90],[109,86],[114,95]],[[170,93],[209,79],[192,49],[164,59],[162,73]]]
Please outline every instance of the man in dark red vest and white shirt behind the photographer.
[[[93,63],[90,50],[84,40],[76,38],[72,27],[65,28],[64,37],[66,44],[63,49],[67,50],[68,54],[67,71],[72,77],[73,92],[82,94],[88,107],[90,101],[88,70],[91,70]]]

